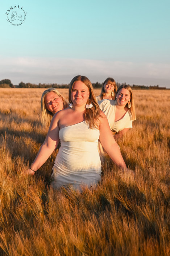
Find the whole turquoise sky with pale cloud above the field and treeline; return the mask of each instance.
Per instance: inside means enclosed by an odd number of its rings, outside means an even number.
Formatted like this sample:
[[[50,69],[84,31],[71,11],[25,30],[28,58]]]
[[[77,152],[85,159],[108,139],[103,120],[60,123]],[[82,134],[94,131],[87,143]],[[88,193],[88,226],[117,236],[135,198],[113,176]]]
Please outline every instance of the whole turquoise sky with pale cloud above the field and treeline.
[[[68,84],[81,74],[170,88],[169,11],[169,0],[1,1],[0,80]]]

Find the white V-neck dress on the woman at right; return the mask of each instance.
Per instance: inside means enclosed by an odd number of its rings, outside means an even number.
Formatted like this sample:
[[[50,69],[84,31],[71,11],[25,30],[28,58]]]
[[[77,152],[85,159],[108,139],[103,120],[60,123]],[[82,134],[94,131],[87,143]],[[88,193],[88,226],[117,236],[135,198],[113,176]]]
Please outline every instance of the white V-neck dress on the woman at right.
[[[117,133],[124,128],[132,128],[132,115],[130,110],[124,115],[122,119],[115,122],[115,113],[116,113],[116,101],[111,101],[109,99],[103,99],[98,102],[100,109],[107,116],[109,126],[112,131]]]

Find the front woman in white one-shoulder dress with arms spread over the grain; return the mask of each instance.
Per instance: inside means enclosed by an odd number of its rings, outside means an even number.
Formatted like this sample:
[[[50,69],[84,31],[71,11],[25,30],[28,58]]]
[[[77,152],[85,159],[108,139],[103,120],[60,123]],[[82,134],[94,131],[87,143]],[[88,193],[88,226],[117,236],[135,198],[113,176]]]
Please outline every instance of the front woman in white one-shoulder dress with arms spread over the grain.
[[[85,76],[74,77],[69,86],[70,107],[53,117],[45,142],[27,174],[35,172],[57,147],[51,183],[53,188],[72,186],[82,190],[97,185],[101,176],[98,140],[113,162],[124,171],[126,164],[112,136],[105,114],[99,109],[90,80]]]

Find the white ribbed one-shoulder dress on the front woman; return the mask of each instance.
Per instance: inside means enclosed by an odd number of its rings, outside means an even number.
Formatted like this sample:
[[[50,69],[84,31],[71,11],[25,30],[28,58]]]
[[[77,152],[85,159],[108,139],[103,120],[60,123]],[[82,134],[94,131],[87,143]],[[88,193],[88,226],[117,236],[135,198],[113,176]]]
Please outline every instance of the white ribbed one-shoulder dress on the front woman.
[[[98,184],[101,176],[101,161],[98,152],[100,131],[90,129],[86,121],[59,130],[59,148],[51,183],[53,188],[82,187]]]

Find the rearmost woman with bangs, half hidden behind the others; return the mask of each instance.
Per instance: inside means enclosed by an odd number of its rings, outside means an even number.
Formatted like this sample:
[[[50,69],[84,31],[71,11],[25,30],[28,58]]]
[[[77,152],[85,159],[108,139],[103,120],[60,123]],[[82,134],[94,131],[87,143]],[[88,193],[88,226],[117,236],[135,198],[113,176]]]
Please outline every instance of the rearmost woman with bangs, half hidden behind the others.
[[[101,93],[96,97],[97,101],[101,101],[102,99],[110,99],[115,100],[115,95],[117,92],[117,85],[113,78],[108,77],[101,88]]]

